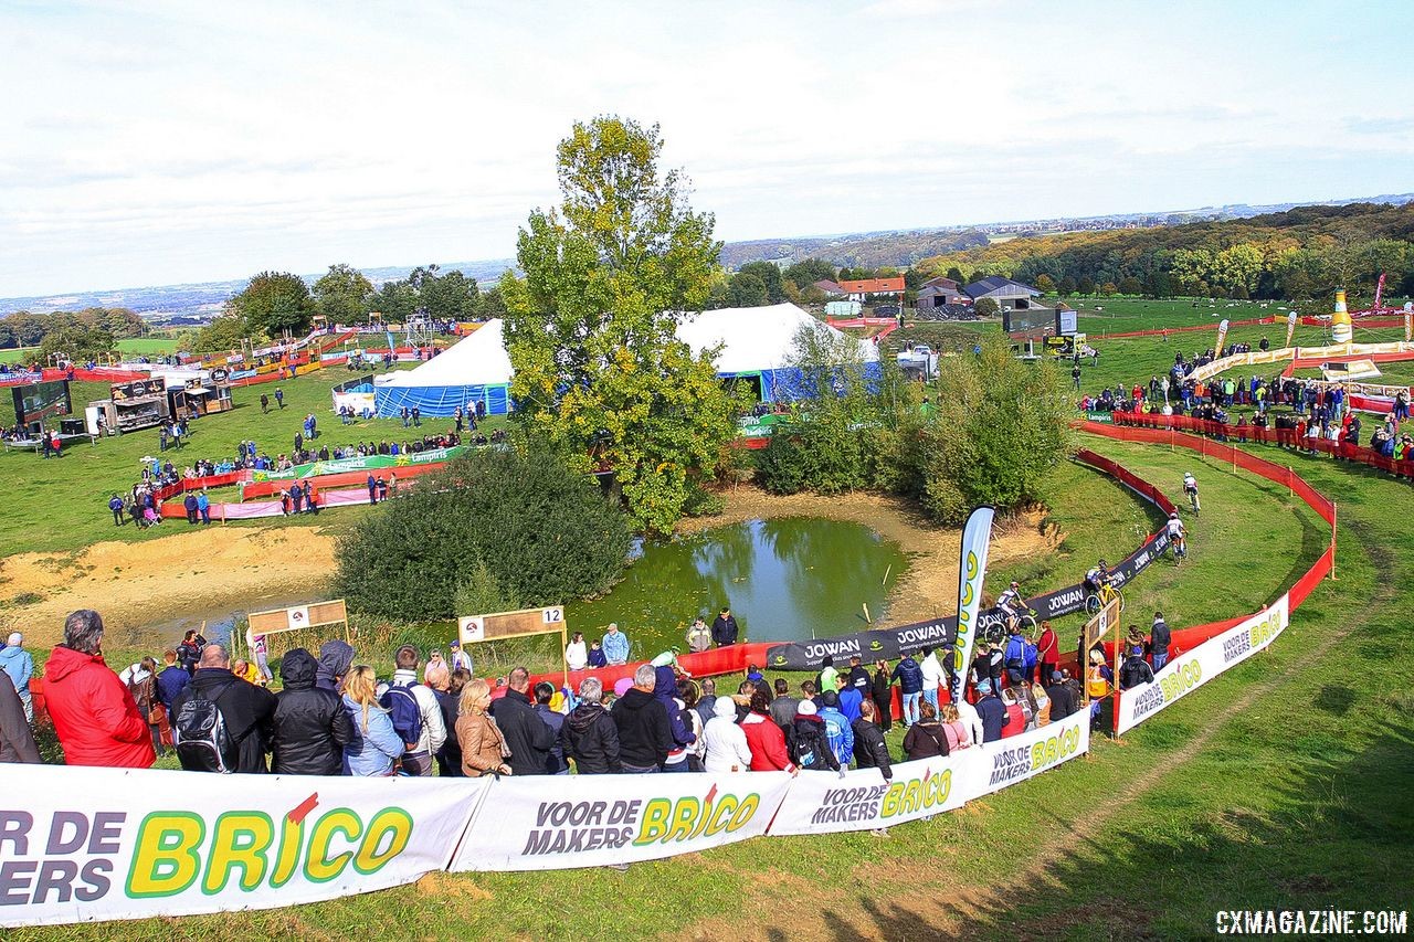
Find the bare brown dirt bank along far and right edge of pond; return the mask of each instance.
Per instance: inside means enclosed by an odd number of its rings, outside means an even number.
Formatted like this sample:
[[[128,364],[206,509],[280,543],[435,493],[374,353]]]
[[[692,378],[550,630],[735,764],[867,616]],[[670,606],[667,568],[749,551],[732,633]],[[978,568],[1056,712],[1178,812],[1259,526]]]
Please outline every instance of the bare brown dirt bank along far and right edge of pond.
[[[723,492],[727,509],[720,516],[690,518],[680,530],[694,533],[742,521],[782,516],[819,516],[863,523],[894,540],[909,554],[908,573],[889,591],[889,622],[911,622],[949,615],[957,610],[957,550],[962,532],[930,523],[906,501],[877,494],[775,496],[754,487]],[[1062,539],[1055,528],[1042,532],[1042,513],[1027,512],[998,521],[991,537],[991,564],[1053,550]]]

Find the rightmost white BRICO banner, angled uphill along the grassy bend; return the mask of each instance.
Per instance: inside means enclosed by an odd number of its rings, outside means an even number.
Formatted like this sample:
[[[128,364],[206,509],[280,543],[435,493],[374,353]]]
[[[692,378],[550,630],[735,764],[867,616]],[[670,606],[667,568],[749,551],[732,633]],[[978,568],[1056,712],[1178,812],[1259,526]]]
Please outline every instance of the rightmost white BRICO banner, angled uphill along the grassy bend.
[[[1120,694],[1120,734],[1188,696],[1223,670],[1253,656],[1275,641],[1288,624],[1291,624],[1290,597],[1282,595],[1267,611],[1253,615],[1216,638],[1209,638],[1184,656],[1174,658],[1154,675],[1154,683]]]

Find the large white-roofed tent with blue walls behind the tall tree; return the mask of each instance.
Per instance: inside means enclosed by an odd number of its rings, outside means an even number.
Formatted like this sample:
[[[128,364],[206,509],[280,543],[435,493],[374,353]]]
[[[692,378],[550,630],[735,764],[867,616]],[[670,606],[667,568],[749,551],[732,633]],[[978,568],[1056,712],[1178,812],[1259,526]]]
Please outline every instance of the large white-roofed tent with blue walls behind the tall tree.
[[[782,402],[803,395],[800,371],[790,365],[802,327],[844,337],[795,304],[683,314],[677,337],[699,354],[720,345],[717,375],[754,380],[764,402]],[[860,359],[878,359],[872,344],[855,342]],[[475,407],[477,402],[485,402],[488,413],[501,414],[509,407],[512,373],[501,321],[488,321],[417,369],[379,378],[375,386],[378,414],[396,416],[403,406],[416,406],[424,416],[450,416],[457,406]]]

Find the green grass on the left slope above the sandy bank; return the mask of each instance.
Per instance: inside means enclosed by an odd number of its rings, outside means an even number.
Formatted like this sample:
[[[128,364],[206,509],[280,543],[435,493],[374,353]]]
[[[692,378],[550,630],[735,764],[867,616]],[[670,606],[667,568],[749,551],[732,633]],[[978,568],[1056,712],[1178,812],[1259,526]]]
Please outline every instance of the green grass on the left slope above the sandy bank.
[[[113,526],[107,499],[127,492],[140,479],[139,461],[146,455],[170,458],[178,472],[198,458],[235,457],[239,441],[253,440],[271,457],[294,447],[294,433],[300,431],[304,416],[314,413],[320,421],[320,444],[354,444],[356,441],[402,441],[416,429],[403,430],[402,420],[372,419],[351,426],[339,424],[332,412],[329,389],[355,373],[335,368],[317,371],[279,383],[284,390],[284,410],[274,406],[277,383],[262,383],[233,390],[236,407],[226,413],[205,416],[191,424],[191,440],[180,450],[158,450],[157,430],[146,429],[132,434],[100,438],[96,446],[72,444],[58,460],[45,461],[33,451],[0,454],[0,479],[7,482],[10,512],[0,515],[0,553],[76,552],[99,540],[161,539],[173,523],[148,530],[127,525]],[[107,396],[102,383],[74,383],[75,413],[95,399]],[[262,393],[271,396],[270,413],[260,413]],[[485,429],[498,427],[503,417],[492,419]],[[451,419],[427,419],[421,433],[438,433],[452,427]],[[419,437],[421,437],[419,434]],[[235,488],[229,489],[235,499]],[[221,492],[214,492],[223,499]],[[366,508],[341,508],[321,513],[318,519],[243,521],[228,526],[348,526],[366,513]],[[339,521],[339,523],[334,523]]]

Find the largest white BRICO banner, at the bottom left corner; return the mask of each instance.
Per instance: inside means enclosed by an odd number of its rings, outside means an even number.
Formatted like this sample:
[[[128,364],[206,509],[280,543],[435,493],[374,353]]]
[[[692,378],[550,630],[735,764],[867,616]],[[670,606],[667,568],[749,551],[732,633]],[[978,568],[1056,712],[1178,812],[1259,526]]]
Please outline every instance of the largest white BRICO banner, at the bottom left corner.
[[[447,866],[488,791],[465,778],[7,765],[0,926],[264,909],[411,883]]]

